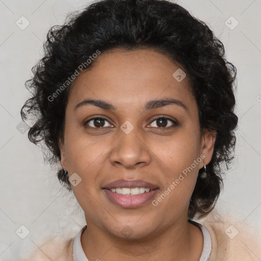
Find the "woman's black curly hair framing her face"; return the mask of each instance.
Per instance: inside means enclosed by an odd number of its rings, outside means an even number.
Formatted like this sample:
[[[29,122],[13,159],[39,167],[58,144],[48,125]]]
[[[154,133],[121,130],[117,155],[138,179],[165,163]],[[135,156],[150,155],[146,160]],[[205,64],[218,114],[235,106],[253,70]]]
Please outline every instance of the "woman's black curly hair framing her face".
[[[233,94],[237,70],[226,61],[224,46],[206,23],[177,4],[161,0],[103,0],[80,13],[71,14],[63,25],[51,27],[44,43],[44,57],[33,67],[34,76],[25,83],[33,96],[22,109],[23,120],[33,115],[28,137],[44,141],[50,164],[61,160],[59,139],[63,140],[65,109],[71,84],[53,101],[53,95],[79,67],[95,53],[113,48],[132,50],[153,48],[182,65],[199,111],[200,131],[216,132],[211,162],[199,170],[190,199],[188,218],[202,218],[211,212],[223,188],[223,165],[234,158]],[[88,68],[95,64],[92,62]],[[236,86],[235,86],[236,87]],[[68,178],[59,170],[58,178],[70,191]]]

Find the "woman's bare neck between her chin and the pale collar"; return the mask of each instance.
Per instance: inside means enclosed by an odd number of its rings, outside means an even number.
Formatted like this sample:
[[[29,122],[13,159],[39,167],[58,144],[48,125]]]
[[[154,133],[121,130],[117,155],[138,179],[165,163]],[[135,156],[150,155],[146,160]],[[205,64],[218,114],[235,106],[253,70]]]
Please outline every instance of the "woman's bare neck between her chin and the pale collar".
[[[146,238],[132,240],[115,237],[90,221],[87,224],[81,243],[89,260],[198,261],[203,250],[201,229],[187,220],[178,220]]]

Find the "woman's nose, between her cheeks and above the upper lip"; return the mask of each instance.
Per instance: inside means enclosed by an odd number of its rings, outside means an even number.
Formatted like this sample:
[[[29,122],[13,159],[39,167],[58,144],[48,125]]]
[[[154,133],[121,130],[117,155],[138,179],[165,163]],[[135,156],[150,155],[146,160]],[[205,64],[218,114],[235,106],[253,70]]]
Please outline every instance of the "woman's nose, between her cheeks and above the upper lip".
[[[113,142],[110,153],[111,164],[116,167],[134,169],[146,166],[151,161],[151,154],[146,139],[138,135],[137,128],[131,133],[119,129],[119,137]]]

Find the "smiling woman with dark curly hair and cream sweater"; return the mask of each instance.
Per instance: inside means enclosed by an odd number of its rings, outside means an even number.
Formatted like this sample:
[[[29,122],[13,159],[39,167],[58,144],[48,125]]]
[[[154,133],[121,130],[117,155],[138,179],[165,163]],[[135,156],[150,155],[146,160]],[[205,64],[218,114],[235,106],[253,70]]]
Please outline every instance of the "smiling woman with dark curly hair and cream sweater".
[[[244,228],[212,213],[238,123],[224,56],[168,1],[103,0],[50,29],[21,115],[87,226],[30,260],[253,260]]]

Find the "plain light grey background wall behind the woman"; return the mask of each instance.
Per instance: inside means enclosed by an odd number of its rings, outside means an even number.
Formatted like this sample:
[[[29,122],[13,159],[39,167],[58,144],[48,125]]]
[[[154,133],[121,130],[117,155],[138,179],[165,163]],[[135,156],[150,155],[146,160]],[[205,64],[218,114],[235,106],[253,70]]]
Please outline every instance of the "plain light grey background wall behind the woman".
[[[30,94],[24,82],[30,79],[31,68],[41,58],[48,29],[63,23],[67,12],[88,3],[0,0],[0,259],[24,256],[51,232],[74,236],[85,225],[83,211],[73,194],[61,189],[55,170],[44,165],[41,148],[30,143],[28,132],[21,134],[17,125],[21,122],[20,109]],[[260,227],[261,1],[177,3],[210,26],[223,42],[228,61],[238,69],[236,160],[227,172],[217,209]],[[30,21],[25,30],[16,25],[21,16]],[[239,22],[233,30],[225,24],[230,16]],[[16,234],[21,225],[30,230],[24,240]]]

